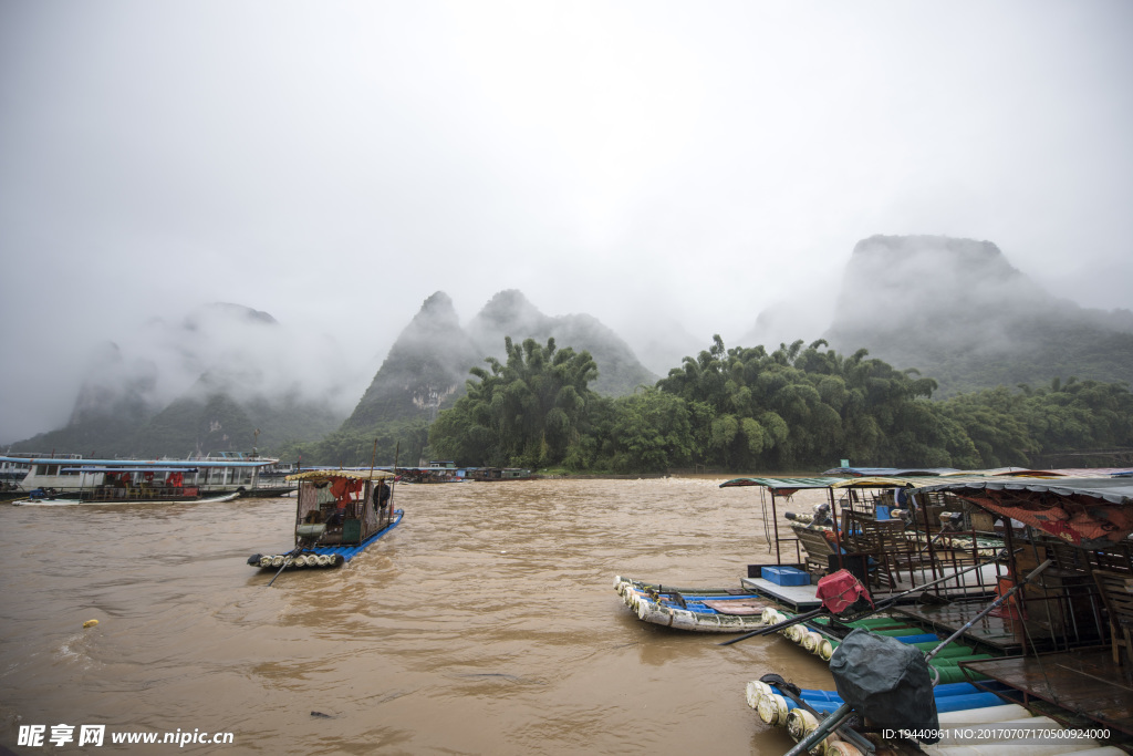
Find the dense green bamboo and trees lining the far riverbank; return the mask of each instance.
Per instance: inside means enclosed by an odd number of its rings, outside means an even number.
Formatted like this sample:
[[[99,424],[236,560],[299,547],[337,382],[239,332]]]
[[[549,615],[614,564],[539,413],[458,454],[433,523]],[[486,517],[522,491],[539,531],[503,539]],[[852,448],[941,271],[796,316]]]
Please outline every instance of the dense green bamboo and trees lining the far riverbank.
[[[697,357],[633,394],[599,397],[586,351],[506,340],[506,363],[475,368],[468,393],[441,413],[429,451],[463,465],[662,472],[871,466],[1026,466],[1051,450],[1133,445],[1123,384],[1055,379],[932,401],[936,382],[862,349],[823,340]]]

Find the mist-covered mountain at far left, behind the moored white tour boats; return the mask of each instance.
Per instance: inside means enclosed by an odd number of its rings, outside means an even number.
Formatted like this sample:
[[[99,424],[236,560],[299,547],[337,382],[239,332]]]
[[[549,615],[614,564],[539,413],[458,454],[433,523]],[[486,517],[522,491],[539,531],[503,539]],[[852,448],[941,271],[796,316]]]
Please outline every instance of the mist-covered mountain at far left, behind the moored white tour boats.
[[[181,457],[247,451],[333,431],[346,417],[342,385],[305,396],[310,375],[291,365],[292,334],[270,314],[204,305],[179,321],[154,317],[130,352],[107,342],[92,354],[67,425],[15,448],[100,456]],[[320,346],[333,362],[335,347]]]

